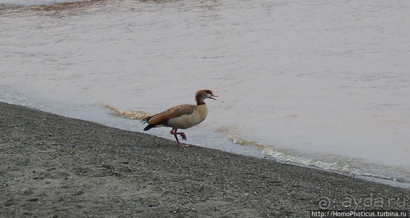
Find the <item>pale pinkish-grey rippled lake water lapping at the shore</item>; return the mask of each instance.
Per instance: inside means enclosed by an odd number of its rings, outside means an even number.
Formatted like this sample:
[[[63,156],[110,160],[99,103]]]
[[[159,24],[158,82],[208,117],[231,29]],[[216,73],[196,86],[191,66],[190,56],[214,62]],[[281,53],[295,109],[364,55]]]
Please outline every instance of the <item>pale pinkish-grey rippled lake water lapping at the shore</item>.
[[[410,182],[409,11],[384,0],[0,0],[0,101],[143,132],[136,118],[206,88],[219,98],[187,143]]]

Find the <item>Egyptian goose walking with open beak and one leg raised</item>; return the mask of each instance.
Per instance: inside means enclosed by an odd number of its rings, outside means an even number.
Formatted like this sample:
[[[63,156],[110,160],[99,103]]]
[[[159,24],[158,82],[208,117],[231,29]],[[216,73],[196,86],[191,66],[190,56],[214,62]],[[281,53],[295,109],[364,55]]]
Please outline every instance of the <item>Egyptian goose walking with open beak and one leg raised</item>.
[[[186,140],[185,133],[177,132],[178,129],[188,129],[198,125],[205,120],[208,115],[208,109],[204,102],[205,99],[213,99],[212,97],[218,97],[213,95],[211,90],[203,89],[197,91],[195,94],[195,100],[197,105],[178,105],[168,110],[157,113],[155,115],[142,119],[144,123],[148,123],[148,126],[144,128],[144,131],[150,130],[156,127],[171,127],[171,134],[175,136],[177,145],[179,147],[185,147],[187,145],[181,144],[177,135],[181,135],[183,140]]]

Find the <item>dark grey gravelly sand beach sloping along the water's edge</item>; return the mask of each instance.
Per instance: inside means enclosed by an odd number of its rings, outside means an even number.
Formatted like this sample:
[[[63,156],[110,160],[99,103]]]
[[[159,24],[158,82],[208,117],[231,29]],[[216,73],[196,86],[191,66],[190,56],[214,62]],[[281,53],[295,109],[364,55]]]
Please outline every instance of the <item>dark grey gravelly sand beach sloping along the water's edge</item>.
[[[308,217],[410,205],[408,189],[175,144],[0,103],[0,217]]]

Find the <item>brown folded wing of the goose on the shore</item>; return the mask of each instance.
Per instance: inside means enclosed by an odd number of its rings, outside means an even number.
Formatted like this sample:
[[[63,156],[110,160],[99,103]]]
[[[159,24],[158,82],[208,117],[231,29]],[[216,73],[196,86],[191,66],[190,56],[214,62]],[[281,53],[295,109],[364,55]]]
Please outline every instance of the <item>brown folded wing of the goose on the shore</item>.
[[[192,114],[194,113],[195,105],[178,105],[168,110],[157,113],[150,117],[143,119],[143,121],[148,122],[149,126],[155,127],[159,125],[167,125],[169,119],[182,116],[184,114]],[[150,129],[150,128],[149,128]]]

